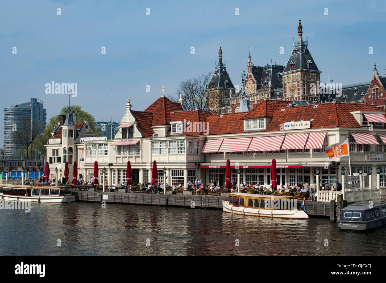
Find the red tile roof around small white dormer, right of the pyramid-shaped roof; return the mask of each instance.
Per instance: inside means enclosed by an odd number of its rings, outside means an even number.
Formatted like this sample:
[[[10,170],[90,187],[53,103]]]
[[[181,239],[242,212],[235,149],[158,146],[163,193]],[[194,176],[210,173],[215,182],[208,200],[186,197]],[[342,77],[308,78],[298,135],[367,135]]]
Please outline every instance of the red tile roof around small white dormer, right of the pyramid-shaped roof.
[[[177,111],[177,112],[171,112],[170,113],[170,121],[171,122],[190,122],[182,132],[182,134],[170,134],[170,131],[168,132],[167,136],[194,136],[194,135],[200,135],[204,134],[204,132],[207,131],[206,124],[203,124],[206,122],[206,117],[212,116],[212,113],[205,110],[184,110],[184,111]],[[195,122],[201,123],[197,124]]]

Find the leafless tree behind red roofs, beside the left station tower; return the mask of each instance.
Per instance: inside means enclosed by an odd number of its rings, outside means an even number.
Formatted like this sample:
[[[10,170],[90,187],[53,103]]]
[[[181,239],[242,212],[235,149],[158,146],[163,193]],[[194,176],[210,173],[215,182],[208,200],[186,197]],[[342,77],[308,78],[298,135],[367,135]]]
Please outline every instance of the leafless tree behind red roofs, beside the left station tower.
[[[186,110],[199,109],[211,111],[212,105],[217,101],[217,92],[213,92],[212,72],[202,74],[193,79],[183,80],[179,83],[176,94],[171,98],[172,101],[179,99],[182,94],[182,106]]]

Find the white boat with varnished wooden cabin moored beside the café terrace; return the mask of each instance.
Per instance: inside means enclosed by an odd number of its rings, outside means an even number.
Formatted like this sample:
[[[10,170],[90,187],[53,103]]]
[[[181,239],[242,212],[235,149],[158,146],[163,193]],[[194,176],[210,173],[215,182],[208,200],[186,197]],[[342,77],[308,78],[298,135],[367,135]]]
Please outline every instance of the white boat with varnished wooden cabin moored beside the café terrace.
[[[296,208],[293,196],[229,193],[228,200],[222,201],[222,211],[248,216],[308,219],[303,210]]]

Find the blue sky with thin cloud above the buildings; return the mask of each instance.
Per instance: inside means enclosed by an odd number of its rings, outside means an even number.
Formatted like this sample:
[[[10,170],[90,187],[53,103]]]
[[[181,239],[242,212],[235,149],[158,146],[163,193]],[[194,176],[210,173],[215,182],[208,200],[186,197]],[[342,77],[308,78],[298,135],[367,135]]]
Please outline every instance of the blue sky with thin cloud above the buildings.
[[[249,46],[253,64],[285,65],[299,18],[322,82],[328,72],[334,83],[368,81],[374,62],[385,75],[384,1],[2,0],[0,11],[0,147],[4,107],[38,97],[48,121],[68,104],[67,95],[45,93],[52,80],[77,83],[71,104],[97,120],[120,121],[128,97],[144,110],[162,85],[174,94],[181,80],[214,70],[219,46],[234,85],[241,85]]]

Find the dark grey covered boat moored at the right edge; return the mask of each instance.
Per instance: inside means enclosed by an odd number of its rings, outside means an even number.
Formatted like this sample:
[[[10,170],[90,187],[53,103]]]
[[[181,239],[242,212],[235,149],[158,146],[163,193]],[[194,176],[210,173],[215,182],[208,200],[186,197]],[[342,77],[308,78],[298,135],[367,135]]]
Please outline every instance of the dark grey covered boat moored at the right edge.
[[[384,226],[385,220],[386,201],[363,201],[340,210],[338,227],[343,230],[364,231]]]

